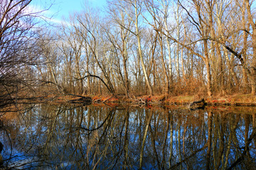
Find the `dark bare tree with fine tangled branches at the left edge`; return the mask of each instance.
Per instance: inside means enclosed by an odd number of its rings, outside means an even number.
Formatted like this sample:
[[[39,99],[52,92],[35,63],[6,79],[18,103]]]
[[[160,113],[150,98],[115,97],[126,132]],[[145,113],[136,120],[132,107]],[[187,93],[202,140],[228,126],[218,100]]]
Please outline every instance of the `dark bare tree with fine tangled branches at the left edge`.
[[[28,86],[21,71],[33,70],[38,62],[36,47],[36,16],[40,13],[29,11],[31,0],[0,1],[0,96],[11,97],[19,88]],[[33,49],[33,50],[32,50]],[[28,55],[31,53],[31,55]],[[32,55],[33,54],[33,55]],[[26,68],[26,69],[25,69]],[[20,86],[23,84],[23,87]],[[18,87],[20,86],[20,87]],[[31,86],[33,87],[33,86]]]

